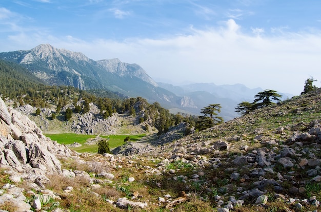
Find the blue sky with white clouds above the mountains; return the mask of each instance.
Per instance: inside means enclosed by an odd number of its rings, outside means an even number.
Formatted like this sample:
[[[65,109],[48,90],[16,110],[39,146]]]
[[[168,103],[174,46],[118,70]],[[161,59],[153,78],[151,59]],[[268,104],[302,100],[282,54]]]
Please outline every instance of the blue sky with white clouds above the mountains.
[[[319,0],[1,0],[0,52],[40,44],[137,63],[175,85],[321,87]]]

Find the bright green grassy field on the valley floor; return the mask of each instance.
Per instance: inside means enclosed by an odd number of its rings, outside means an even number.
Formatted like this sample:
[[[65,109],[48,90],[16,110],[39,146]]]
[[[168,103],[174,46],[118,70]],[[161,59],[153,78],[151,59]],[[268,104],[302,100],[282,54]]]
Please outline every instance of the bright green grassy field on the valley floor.
[[[74,142],[82,144],[79,147],[70,147],[71,150],[77,151],[79,153],[88,152],[88,153],[97,153],[98,146],[96,144],[89,145],[85,144],[88,139],[95,138],[95,135],[78,135],[73,133],[62,133],[62,134],[45,134],[45,136],[51,138],[51,140],[57,141],[61,144],[73,144]],[[143,137],[145,134],[140,135],[109,135],[109,136],[100,136],[106,138],[109,141],[110,149],[113,149],[117,146],[123,145],[124,139],[129,136],[130,141],[137,141]]]

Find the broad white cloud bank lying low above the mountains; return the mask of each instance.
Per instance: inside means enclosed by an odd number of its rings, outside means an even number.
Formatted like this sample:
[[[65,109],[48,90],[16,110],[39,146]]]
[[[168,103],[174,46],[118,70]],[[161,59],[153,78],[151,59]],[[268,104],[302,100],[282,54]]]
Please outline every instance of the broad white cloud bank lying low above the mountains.
[[[252,32],[243,32],[233,19],[217,28],[191,28],[186,35],[128,38],[121,42],[103,38],[86,41],[74,36],[54,37],[34,32],[10,36],[9,40],[2,41],[2,49],[27,50],[49,43],[56,48],[82,52],[95,60],[117,57],[137,63],[153,78],[243,83],[250,88],[292,94],[303,91],[309,76],[321,81],[320,32],[283,31],[273,36],[267,36],[261,28],[253,28]]]

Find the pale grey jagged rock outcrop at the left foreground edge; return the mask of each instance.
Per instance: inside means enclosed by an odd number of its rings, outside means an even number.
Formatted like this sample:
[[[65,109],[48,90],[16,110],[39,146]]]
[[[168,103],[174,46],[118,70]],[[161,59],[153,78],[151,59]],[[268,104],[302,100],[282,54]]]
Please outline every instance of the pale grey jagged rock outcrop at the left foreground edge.
[[[56,155],[69,157],[74,154],[66,146],[44,136],[27,116],[7,108],[1,98],[0,129],[0,166],[22,174],[36,184],[42,184],[39,179],[44,179],[45,174],[62,173]],[[33,172],[35,169],[37,171]]]

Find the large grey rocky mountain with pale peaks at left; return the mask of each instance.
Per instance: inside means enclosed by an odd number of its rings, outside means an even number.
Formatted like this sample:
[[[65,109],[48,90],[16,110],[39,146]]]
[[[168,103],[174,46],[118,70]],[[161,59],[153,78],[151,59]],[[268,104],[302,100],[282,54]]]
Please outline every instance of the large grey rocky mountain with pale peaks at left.
[[[48,84],[110,90],[130,97],[141,96],[169,107],[178,99],[159,88],[142,67],[117,58],[95,61],[80,52],[56,49],[49,44],[27,51],[2,52],[0,58],[26,67]]]

